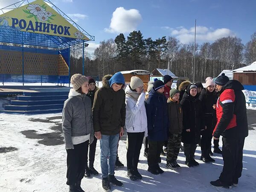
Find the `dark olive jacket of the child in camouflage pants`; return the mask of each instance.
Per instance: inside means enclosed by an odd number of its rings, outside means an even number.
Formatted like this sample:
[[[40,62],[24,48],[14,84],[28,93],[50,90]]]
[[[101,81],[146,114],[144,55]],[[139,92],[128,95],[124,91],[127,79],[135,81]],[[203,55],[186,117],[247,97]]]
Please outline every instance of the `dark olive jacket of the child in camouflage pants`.
[[[178,102],[173,102],[168,98],[167,100],[168,106],[168,116],[169,116],[169,133],[171,134],[181,134],[182,132],[182,119],[183,112],[181,105]]]

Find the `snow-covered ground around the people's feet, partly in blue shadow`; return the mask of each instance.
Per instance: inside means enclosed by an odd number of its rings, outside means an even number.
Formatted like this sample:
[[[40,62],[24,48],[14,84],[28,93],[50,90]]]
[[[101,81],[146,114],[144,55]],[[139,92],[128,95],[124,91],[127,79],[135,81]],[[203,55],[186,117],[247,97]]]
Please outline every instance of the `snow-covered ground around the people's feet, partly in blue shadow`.
[[[162,157],[162,175],[147,171],[147,160],[140,154],[139,171],[141,181],[126,177],[126,167],[116,170],[116,177],[123,187],[111,186],[113,191],[125,192],[255,192],[256,191],[256,130],[250,130],[244,145],[244,168],[239,186],[233,189],[216,189],[209,185],[221,173],[223,160],[220,155],[215,163],[205,164],[199,160],[197,148],[195,158],[199,167],[184,165],[184,154],[180,152],[177,162],[181,169],[166,169],[166,157]],[[220,142],[221,145],[221,142]],[[126,165],[125,138],[119,142],[119,158]],[[0,192],[65,192],[66,151],[61,133],[61,113],[44,115],[0,114]],[[100,170],[99,142],[96,148],[95,168]],[[101,175],[84,178],[81,183],[86,192],[102,191]]]

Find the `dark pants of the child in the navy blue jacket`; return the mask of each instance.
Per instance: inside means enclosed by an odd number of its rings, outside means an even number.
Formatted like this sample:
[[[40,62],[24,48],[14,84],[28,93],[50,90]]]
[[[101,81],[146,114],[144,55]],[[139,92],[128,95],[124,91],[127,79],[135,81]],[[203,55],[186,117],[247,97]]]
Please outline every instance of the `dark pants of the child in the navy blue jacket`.
[[[158,160],[160,158],[161,150],[163,148],[163,141],[148,140],[148,167],[155,169],[158,167]]]

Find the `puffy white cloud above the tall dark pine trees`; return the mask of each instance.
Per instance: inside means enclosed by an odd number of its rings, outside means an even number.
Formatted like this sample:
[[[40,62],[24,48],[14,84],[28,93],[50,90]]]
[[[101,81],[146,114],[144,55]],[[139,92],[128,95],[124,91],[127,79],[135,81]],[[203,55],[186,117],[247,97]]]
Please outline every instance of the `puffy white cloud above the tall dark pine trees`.
[[[105,32],[110,33],[126,33],[136,30],[142,17],[137,9],[126,10],[118,7],[113,12],[109,28],[105,28]]]

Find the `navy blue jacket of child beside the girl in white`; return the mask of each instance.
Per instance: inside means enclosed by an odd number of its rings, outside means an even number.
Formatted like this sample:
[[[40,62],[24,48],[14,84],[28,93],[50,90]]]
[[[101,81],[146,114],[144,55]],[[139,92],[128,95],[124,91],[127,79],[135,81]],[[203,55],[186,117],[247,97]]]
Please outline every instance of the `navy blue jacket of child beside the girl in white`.
[[[166,141],[168,139],[167,101],[163,94],[152,89],[145,101],[148,119],[148,139]]]

